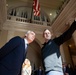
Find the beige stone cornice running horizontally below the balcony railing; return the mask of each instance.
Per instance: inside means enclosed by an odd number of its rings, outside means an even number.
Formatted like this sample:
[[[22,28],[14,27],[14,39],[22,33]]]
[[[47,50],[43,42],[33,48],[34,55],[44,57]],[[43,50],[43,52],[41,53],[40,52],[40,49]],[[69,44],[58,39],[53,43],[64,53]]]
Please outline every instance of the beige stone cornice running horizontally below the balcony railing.
[[[13,30],[13,31],[22,31],[25,32],[27,30],[33,30],[38,34],[42,34],[43,30],[48,28],[49,30],[51,29],[50,26],[44,26],[44,25],[37,25],[33,23],[23,23],[23,22],[15,22],[15,21],[9,21],[7,20],[2,29],[4,30]]]

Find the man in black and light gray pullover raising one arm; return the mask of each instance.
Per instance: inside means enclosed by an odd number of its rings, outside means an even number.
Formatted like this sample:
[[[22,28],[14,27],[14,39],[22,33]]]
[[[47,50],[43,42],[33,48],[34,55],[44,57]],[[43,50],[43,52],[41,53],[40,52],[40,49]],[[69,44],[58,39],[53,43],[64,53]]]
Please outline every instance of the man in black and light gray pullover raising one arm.
[[[76,22],[74,21],[65,33],[55,39],[51,39],[52,33],[48,29],[43,31],[45,43],[42,47],[41,53],[46,75],[63,75],[59,47],[71,38],[75,30]]]

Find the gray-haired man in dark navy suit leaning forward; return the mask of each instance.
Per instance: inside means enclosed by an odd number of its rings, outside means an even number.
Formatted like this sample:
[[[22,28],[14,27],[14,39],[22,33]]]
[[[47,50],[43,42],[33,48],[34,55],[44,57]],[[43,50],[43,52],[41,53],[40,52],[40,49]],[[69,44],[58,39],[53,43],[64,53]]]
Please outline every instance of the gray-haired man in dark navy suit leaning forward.
[[[34,39],[35,33],[28,31],[24,38],[16,36],[0,49],[0,75],[21,75],[27,44]]]

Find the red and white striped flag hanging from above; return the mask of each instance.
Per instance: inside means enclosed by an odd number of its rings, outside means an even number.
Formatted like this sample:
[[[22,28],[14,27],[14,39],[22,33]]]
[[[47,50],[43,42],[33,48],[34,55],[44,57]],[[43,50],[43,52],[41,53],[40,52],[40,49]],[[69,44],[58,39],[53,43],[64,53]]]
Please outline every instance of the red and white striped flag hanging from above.
[[[33,0],[33,12],[34,12],[34,16],[40,16],[39,0]]]

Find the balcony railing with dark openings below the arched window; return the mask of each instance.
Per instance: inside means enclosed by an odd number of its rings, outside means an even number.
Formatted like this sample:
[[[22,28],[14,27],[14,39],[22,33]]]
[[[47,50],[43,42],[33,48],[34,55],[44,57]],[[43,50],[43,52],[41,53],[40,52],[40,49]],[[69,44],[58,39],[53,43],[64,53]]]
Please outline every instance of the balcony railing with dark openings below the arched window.
[[[46,26],[51,26],[50,22],[44,22],[44,21],[37,21],[37,20],[30,20],[30,19],[26,19],[26,18],[22,18],[22,17],[17,17],[17,16],[7,16],[7,20],[11,20],[11,21],[16,21],[16,22],[27,22],[27,23],[33,23],[33,24],[37,24],[37,25],[46,25]]]

